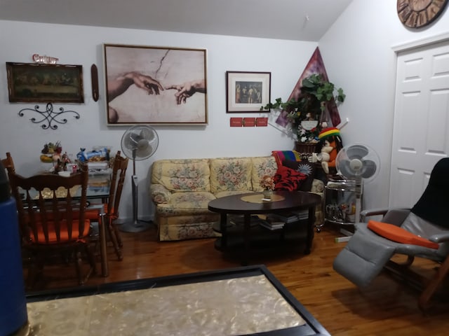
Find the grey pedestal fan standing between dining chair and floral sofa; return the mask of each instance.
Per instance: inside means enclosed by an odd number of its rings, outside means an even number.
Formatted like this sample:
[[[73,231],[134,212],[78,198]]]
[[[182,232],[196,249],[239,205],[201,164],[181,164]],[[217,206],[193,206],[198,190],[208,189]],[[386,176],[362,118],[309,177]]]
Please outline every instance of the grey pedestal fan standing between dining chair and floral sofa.
[[[151,222],[138,220],[138,176],[135,174],[135,162],[152,156],[158,145],[159,137],[156,130],[147,125],[130,127],[121,137],[123,154],[133,160],[133,221],[119,226],[119,229],[123,232],[141,232],[147,230],[151,225]]]

